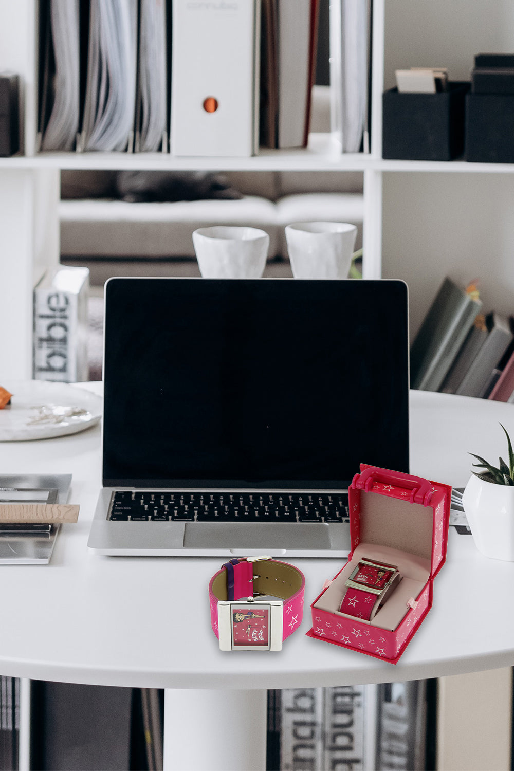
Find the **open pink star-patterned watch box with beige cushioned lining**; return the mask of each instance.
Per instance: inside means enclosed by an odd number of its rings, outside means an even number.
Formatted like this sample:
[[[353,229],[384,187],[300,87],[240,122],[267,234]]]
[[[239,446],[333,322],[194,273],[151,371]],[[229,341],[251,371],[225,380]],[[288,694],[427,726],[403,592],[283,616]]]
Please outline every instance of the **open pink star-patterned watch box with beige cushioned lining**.
[[[311,604],[307,635],[396,664],[432,608],[434,578],[446,558],[452,488],[361,465],[348,493],[351,552]],[[359,611],[359,603],[365,610],[368,591],[347,585],[363,560],[394,566],[401,574],[369,621],[369,613]],[[374,591],[368,584],[363,588]],[[347,592],[354,602],[351,614],[340,611]],[[348,603],[345,607],[349,611]]]

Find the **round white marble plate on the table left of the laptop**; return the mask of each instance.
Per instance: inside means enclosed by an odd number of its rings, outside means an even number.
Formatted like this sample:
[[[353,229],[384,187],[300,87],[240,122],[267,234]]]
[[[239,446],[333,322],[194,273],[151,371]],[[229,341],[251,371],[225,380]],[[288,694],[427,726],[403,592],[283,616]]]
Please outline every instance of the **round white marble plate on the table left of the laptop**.
[[[0,409],[0,442],[78,433],[102,417],[102,398],[69,383],[7,380],[0,385],[12,393],[11,403]]]

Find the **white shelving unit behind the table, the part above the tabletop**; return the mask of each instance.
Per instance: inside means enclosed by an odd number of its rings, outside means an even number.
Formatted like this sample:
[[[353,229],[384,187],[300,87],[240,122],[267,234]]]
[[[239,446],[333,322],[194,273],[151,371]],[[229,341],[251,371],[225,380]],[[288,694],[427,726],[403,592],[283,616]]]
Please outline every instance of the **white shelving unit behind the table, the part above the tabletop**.
[[[403,278],[411,333],[445,274],[479,278],[486,308],[514,311],[514,165],[381,159],[381,93],[398,67],[448,66],[468,79],[479,51],[514,49],[514,5],[496,0],[375,0],[371,153],[341,156],[330,137],[307,150],[263,150],[251,158],[176,158],[165,153],[35,154],[37,0],[0,0],[0,71],[23,80],[23,157],[0,159],[0,344],[2,372],[30,375],[32,286],[59,261],[61,169],[361,171],[365,278]],[[109,204],[106,204],[109,205]]]

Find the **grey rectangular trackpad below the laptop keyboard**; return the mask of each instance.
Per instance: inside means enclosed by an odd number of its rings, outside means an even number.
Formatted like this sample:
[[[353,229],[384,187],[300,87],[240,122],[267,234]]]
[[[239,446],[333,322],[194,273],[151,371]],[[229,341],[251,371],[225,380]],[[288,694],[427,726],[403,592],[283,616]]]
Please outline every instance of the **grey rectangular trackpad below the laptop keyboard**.
[[[186,522],[188,549],[330,549],[327,524]]]

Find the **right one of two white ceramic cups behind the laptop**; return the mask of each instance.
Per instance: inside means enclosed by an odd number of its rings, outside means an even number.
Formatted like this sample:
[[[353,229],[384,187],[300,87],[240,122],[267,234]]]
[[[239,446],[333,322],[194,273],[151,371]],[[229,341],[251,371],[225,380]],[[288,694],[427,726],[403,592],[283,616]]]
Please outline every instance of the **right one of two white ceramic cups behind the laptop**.
[[[294,278],[348,278],[357,227],[348,222],[286,225],[287,252]]]

